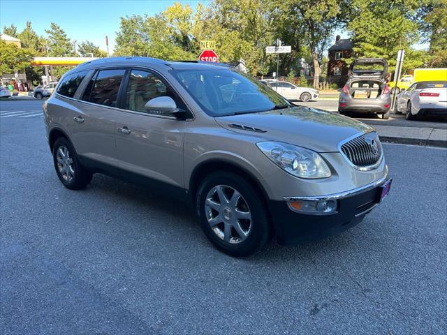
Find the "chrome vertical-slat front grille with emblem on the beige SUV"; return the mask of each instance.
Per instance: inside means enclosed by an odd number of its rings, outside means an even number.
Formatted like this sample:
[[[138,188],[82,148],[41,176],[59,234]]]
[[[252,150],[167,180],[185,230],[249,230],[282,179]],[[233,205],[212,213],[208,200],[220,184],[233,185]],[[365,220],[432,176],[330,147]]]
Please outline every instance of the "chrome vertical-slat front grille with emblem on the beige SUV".
[[[355,137],[340,147],[346,159],[360,170],[371,170],[379,165],[382,146],[375,132]]]

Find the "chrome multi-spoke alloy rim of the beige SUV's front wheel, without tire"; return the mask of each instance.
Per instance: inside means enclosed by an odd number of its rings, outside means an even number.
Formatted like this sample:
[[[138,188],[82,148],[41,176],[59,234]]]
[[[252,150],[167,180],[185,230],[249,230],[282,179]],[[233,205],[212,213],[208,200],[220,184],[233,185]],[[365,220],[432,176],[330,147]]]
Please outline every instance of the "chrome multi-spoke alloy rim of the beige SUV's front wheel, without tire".
[[[235,188],[214,186],[205,200],[205,215],[215,234],[231,244],[237,244],[251,232],[251,213],[247,202]]]

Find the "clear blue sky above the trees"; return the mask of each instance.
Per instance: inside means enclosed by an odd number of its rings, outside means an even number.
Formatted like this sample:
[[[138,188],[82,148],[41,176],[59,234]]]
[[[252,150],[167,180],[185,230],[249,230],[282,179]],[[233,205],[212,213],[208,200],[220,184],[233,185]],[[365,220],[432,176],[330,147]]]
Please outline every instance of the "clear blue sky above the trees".
[[[119,19],[126,15],[154,15],[179,2],[195,9],[198,3],[207,5],[207,0],[0,0],[0,29],[15,24],[22,31],[31,21],[38,35],[46,36],[50,22],[59,24],[68,38],[80,44],[89,40],[106,50],[105,35],[108,35],[110,54],[115,45]],[[344,31],[335,31],[342,38],[349,36]],[[427,45],[415,45],[417,49]]]

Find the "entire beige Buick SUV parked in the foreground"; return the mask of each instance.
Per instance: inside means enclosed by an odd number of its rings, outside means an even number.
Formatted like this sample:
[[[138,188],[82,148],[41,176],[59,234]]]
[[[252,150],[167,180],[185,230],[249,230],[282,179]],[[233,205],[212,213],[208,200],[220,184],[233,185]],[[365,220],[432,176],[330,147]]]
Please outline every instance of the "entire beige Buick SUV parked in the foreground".
[[[84,188],[100,172],[191,201],[230,255],[326,237],[388,193],[372,128],[291,105],[221,64],[127,57],[69,71],[44,106],[57,176]]]

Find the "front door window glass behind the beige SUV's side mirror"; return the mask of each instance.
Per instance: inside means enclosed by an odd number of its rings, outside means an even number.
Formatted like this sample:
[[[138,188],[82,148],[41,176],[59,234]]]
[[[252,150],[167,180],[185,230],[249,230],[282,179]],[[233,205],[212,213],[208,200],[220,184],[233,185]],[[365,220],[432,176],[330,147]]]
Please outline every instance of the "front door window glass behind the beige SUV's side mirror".
[[[174,92],[154,73],[145,70],[132,70],[126,89],[124,108],[135,112],[147,112],[145,110],[147,101],[157,96],[170,96],[177,103],[177,107],[182,107],[182,103]]]

